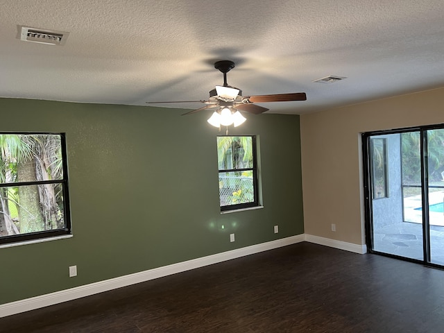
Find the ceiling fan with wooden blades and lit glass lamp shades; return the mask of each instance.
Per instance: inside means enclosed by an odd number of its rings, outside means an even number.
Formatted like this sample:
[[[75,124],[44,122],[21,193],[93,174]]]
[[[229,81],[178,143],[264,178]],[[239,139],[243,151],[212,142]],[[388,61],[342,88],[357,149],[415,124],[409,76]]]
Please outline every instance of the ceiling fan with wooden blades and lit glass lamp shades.
[[[272,95],[256,95],[256,96],[242,96],[241,89],[232,87],[227,83],[227,73],[234,68],[234,62],[230,60],[221,60],[214,63],[214,68],[219,69],[223,73],[223,85],[216,85],[215,89],[210,91],[210,99],[208,101],[169,101],[169,102],[146,102],[151,104],[157,103],[193,103],[199,102],[206,104],[202,108],[187,112],[185,114],[192,114],[202,110],[217,108],[213,112],[208,123],[212,126],[221,128],[221,126],[233,125],[234,127],[241,125],[246,121],[246,118],[240,111],[250,112],[253,114],[261,114],[268,111],[267,108],[255,105],[253,103],[266,102],[287,102],[287,101],[306,101],[307,96],[305,92],[294,92],[289,94],[272,94]],[[185,115],[182,114],[182,115]]]

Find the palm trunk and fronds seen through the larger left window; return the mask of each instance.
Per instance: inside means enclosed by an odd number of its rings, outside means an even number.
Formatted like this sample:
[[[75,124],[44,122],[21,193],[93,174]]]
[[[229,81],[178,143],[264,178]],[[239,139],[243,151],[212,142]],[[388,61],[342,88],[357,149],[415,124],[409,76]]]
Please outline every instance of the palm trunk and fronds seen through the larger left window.
[[[0,187],[0,233],[24,234],[63,228],[61,184],[21,185],[62,179],[62,156],[59,135],[0,135],[0,181],[11,187]],[[12,194],[17,198],[13,200]],[[9,205],[16,205],[19,223],[10,216]]]

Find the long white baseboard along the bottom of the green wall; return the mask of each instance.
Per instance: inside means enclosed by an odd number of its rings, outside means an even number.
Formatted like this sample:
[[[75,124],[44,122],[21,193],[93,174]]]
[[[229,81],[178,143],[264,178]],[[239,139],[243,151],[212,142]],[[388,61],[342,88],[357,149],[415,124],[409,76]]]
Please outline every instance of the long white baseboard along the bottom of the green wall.
[[[275,241],[268,241],[266,243],[247,246],[245,248],[238,248],[236,250],[230,250],[223,253],[216,253],[215,255],[209,255],[207,257],[191,259],[187,262],[179,262],[177,264],[153,268],[148,271],[123,275],[119,278],[94,282],[92,284],[56,291],[55,293],[48,293],[42,296],[17,300],[16,302],[0,305],[0,318],[11,316],[12,314],[19,314],[25,311],[39,309],[41,307],[47,307],[49,305],[55,305],[61,302],[67,302],[69,300],[75,300],[85,296],[91,296],[96,293],[102,293],[103,291],[110,291],[112,289],[130,286],[131,284],[136,284],[139,282],[162,278],[163,276],[189,271],[190,269],[216,264],[218,262],[225,262],[227,260],[244,257],[246,255],[253,255],[266,250],[272,250],[273,248],[280,248],[282,246],[300,243],[301,241],[305,241],[304,234],[277,239]]]

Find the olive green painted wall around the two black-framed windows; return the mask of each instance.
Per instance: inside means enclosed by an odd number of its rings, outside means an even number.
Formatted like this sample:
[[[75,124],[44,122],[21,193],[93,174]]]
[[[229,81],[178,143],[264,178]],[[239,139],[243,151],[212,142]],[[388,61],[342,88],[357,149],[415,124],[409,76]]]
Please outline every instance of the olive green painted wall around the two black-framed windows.
[[[221,215],[219,132],[211,112],[182,113],[0,99],[1,131],[66,133],[74,234],[0,248],[0,304],[304,232],[298,116],[247,114],[230,128],[259,137],[264,209]]]

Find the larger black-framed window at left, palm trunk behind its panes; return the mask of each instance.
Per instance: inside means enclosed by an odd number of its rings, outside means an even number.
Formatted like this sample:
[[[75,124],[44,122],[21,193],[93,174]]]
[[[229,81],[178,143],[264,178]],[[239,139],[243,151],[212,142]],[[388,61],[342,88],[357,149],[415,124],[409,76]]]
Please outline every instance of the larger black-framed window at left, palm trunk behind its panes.
[[[0,244],[71,233],[65,135],[0,133]]]

